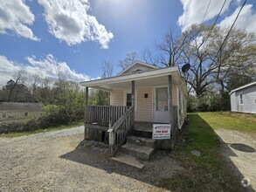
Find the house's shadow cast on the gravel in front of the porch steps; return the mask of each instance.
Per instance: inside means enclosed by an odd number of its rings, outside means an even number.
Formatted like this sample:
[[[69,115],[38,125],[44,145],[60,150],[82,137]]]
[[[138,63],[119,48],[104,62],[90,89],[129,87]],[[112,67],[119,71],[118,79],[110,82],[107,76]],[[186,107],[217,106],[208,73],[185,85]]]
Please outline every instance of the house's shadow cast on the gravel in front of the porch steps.
[[[81,141],[73,151],[59,157],[93,168],[100,168],[105,171],[106,175],[123,175],[156,187],[159,187],[159,178],[171,177],[180,168],[179,163],[170,157],[170,153],[157,154],[156,152],[149,161],[141,161],[145,165],[142,169],[113,161],[109,154],[109,147],[103,143]]]

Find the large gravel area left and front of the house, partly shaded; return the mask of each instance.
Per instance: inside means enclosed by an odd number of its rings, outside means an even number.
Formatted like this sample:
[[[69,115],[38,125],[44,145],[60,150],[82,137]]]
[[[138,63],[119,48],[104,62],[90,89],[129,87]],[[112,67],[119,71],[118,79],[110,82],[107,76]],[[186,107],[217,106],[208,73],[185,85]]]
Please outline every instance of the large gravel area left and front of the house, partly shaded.
[[[181,168],[168,154],[155,154],[138,170],[82,139],[83,127],[0,138],[0,191],[164,191],[159,179]]]

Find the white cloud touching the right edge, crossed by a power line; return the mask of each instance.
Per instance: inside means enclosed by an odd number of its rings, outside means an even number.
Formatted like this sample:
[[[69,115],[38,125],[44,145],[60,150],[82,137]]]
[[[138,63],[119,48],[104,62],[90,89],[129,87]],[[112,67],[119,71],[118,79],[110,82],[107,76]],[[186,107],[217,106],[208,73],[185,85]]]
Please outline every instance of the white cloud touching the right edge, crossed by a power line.
[[[238,7],[231,16],[225,17],[221,22],[220,26],[231,26],[237,17],[241,7]],[[256,32],[256,12],[253,10],[253,4],[246,4],[243,10],[241,10],[238,20],[234,27],[244,29],[250,32]]]

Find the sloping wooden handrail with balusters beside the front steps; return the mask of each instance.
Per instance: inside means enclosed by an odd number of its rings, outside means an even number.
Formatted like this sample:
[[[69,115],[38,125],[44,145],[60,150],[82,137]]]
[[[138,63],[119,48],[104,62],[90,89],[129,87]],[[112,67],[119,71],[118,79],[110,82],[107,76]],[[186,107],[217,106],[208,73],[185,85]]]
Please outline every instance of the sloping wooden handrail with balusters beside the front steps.
[[[114,125],[109,122],[109,129],[107,130],[109,134],[109,145],[111,148],[111,154],[114,155],[115,152],[121,145],[125,142],[129,130],[131,129],[132,123],[132,112],[133,106],[131,106],[126,113],[124,113],[119,120],[117,120]]]

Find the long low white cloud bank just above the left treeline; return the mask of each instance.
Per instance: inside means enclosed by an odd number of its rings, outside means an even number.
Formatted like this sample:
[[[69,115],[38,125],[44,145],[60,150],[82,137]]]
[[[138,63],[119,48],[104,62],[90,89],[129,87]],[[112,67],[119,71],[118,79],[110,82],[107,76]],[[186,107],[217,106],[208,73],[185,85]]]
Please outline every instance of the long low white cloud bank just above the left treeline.
[[[43,59],[31,56],[27,60],[30,65],[17,64],[0,55],[0,85],[5,85],[20,70],[27,72],[29,75],[38,74],[42,78],[57,79],[60,73],[66,79],[76,82],[89,80],[88,76],[71,70],[66,62],[59,62],[51,54],[46,55]]]

